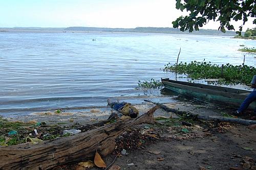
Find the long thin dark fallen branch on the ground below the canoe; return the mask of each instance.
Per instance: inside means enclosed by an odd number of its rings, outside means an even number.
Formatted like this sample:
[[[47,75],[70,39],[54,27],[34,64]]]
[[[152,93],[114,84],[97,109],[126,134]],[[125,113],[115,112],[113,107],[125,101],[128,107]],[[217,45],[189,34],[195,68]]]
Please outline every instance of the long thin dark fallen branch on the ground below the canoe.
[[[151,102],[148,100],[145,100],[146,102]],[[155,102],[151,102],[154,103],[155,105],[159,106],[160,108],[162,108],[163,110],[167,111],[167,112],[173,112],[176,113],[178,115],[183,115],[183,114],[189,114],[195,118],[198,119],[202,119],[202,120],[208,120],[208,121],[217,121],[217,122],[229,122],[229,123],[234,123],[234,124],[240,124],[240,125],[254,125],[256,124],[255,120],[247,120],[247,119],[242,119],[242,118],[232,118],[232,117],[221,117],[221,116],[206,116],[206,115],[200,115],[200,114],[196,114],[196,113],[191,113],[191,112],[184,112],[184,111],[180,111],[180,110],[176,110],[176,109],[172,109],[169,108],[163,104],[160,103],[155,103]]]

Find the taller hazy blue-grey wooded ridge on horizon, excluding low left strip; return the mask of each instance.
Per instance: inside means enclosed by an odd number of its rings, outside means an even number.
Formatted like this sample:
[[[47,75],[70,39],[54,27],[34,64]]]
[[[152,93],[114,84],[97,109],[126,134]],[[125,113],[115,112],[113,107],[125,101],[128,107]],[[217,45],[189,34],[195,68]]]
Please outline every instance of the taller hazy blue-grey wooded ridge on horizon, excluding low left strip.
[[[97,28],[97,27],[68,27],[66,31],[97,31],[97,32],[134,32],[134,33],[162,33],[162,34],[197,34],[197,35],[221,35],[221,36],[236,36],[234,31],[226,31],[222,33],[219,30],[204,30],[194,31],[193,33],[181,32],[174,28],[156,28],[156,27],[137,27],[134,29],[123,28]]]

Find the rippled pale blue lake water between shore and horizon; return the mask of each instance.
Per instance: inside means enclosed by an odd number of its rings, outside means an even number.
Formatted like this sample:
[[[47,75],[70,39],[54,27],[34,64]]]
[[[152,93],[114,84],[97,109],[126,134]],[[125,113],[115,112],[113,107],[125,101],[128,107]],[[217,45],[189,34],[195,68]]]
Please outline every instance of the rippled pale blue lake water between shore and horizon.
[[[176,62],[180,47],[182,62],[238,65],[245,54],[245,64],[255,67],[255,54],[237,51],[242,44],[255,47],[256,41],[175,34],[0,33],[0,114],[103,106],[110,96],[143,95],[135,90],[138,80],[174,77],[162,68]]]

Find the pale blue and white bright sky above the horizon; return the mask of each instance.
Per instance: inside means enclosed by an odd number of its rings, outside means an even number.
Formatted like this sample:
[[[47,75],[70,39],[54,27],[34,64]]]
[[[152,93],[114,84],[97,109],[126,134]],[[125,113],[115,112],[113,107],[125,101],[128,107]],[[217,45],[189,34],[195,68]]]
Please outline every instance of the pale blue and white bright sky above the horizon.
[[[0,27],[173,27],[175,0],[0,0]],[[241,25],[236,23],[238,28]],[[203,29],[218,29],[210,21]],[[244,26],[254,28],[252,19]]]

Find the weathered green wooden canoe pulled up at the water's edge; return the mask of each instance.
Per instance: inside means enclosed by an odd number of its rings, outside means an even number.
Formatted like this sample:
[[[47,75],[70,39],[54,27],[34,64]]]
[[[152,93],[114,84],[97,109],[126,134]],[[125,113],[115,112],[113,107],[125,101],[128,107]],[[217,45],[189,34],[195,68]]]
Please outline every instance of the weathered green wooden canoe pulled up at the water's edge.
[[[162,83],[165,88],[179,94],[225,106],[232,105],[239,107],[250,93],[250,90],[181,82],[169,79],[162,79]],[[254,109],[255,107],[256,102],[252,102],[249,109]]]

